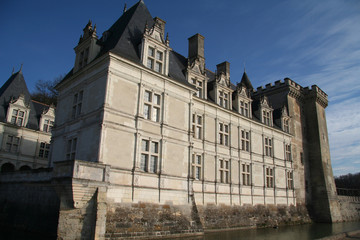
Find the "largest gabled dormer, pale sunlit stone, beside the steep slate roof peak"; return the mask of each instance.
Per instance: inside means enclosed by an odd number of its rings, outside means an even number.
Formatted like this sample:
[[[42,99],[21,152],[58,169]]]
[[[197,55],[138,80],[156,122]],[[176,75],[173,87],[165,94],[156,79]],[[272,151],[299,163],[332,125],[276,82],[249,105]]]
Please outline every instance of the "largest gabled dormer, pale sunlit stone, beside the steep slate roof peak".
[[[165,35],[165,21],[155,17],[154,26],[146,24],[141,46],[141,62],[164,75],[169,74],[169,37]]]

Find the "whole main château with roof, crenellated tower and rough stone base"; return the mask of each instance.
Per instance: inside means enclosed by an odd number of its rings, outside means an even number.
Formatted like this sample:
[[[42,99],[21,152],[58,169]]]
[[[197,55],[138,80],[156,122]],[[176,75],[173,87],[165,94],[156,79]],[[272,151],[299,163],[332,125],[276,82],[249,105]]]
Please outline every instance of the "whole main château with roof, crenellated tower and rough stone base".
[[[58,239],[304,223],[305,206],[342,219],[319,87],[234,84],[230,63],[205,68],[202,35],[176,53],[143,1],[100,39],[83,31],[57,85]]]

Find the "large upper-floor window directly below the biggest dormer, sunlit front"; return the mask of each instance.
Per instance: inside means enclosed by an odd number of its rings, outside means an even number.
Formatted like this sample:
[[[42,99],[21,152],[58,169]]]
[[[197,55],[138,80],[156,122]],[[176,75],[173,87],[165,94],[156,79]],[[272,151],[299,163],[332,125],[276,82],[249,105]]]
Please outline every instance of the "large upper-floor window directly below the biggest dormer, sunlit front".
[[[145,90],[143,109],[144,118],[154,122],[160,122],[160,105],[161,96],[159,94]]]

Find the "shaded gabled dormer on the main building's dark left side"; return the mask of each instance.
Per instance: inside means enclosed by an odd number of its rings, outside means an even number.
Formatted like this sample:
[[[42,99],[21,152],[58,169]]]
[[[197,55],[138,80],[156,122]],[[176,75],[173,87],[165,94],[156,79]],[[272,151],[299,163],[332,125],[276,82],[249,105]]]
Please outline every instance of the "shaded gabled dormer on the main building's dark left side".
[[[96,25],[92,26],[89,20],[83,29],[83,35],[80,36],[78,45],[74,48],[76,58],[74,72],[90,63],[100,52],[100,45],[97,44]]]

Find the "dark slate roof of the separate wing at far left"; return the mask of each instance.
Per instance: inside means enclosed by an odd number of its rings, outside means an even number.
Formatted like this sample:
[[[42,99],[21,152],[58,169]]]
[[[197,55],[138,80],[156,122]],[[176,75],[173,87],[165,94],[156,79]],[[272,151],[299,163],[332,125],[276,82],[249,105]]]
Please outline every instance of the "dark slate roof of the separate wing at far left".
[[[41,114],[44,110],[47,110],[49,106],[31,100],[31,95],[21,70],[12,74],[0,88],[0,121],[6,122],[6,114],[10,101],[17,99],[21,94],[24,95],[25,103],[30,105],[29,120],[26,127],[39,130]]]

